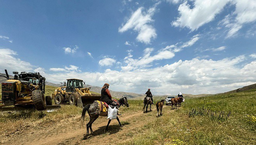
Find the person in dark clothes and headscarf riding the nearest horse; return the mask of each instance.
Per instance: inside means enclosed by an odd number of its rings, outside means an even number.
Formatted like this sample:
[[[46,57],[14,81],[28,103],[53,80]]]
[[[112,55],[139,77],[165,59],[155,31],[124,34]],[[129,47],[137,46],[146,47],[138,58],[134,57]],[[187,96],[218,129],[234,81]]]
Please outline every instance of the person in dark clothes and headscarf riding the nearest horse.
[[[106,102],[108,105],[117,106],[117,103],[112,100],[112,96],[109,92],[109,84],[105,83],[101,89],[101,98],[100,101]],[[118,111],[118,115],[119,111]]]

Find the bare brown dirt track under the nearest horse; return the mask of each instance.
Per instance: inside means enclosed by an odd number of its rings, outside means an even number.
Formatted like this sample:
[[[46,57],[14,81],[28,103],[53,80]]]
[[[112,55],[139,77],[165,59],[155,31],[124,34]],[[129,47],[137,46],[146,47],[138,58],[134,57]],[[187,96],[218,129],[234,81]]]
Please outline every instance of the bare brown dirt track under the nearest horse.
[[[164,106],[163,115],[168,114],[170,106]],[[4,143],[6,145],[77,145],[77,144],[99,144],[104,138],[104,142],[115,144],[120,143],[122,138],[126,138],[122,142],[129,139],[129,133],[141,128],[145,125],[146,120],[156,118],[156,108],[152,111],[143,113],[137,111],[134,113],[125,113],[118,116],[124,126],[121,128],[116,119],[112,120],[109,125],[109,131],[105,131],[108,120],[106,117],[99,117],[93,124],[92,129],[95,135],[83,140],[86,127],[80,129],[80,116],[73,116],[68,120],[61,120],[53,124],[38,124],[38,128],[30,128],[29,126],[21,126],[10,135],[5,136]],[[86,113],[86,123],[88,122],[88,114]],[[2,139],[1,139],[2,140]]]

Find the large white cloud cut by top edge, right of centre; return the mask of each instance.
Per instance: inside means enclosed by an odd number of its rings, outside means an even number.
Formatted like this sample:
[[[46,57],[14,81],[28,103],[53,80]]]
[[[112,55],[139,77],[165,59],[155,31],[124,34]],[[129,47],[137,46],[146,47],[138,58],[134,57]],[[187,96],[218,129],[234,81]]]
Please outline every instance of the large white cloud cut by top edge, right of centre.
[[[202,25],[211,22],[230,0],[194,0],[193,9],[186,0],[179,8],[180,17],[171,24],[175,27],[187,27],[194,31]]]

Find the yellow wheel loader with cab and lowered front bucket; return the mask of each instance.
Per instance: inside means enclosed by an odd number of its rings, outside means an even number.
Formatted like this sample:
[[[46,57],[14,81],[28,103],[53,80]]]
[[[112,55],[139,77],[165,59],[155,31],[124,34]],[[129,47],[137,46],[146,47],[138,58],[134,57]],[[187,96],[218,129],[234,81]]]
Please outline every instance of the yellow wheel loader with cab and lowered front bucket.
[[[71,78],[66,82],[61,83],[61,87],[55,89],[52,98],[54,98],[55,104],[64,104],[69,102],[70,105],[76,105],[78,107],[84,107],[86,104],[90,104],[95,100],[100,100],[100,94],[92,94],[90,92],[91,87],[84,87],[85,82],[80,79]]]

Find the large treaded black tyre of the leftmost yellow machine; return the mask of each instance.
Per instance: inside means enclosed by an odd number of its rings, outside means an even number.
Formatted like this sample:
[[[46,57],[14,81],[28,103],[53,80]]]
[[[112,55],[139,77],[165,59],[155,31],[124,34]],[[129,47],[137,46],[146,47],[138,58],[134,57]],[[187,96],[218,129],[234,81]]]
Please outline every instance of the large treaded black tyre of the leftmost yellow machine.
[[[42,90],[33,90],[31,98],[36,110],[40,111],[46,109],[45,96]]]

